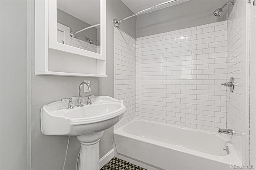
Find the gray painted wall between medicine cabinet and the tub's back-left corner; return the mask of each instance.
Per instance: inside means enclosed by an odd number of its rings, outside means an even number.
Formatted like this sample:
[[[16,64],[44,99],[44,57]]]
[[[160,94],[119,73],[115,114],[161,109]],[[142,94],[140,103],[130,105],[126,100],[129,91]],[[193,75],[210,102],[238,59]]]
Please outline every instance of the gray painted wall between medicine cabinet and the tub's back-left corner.
[[[114,25],[113,19],[121,19],[132,13],[121,0],[107,0],[107,75],[108,77],[99,78],[99,95],[114,97]],[[136,17],[127,20],[120,25],[120,29],[136,38]],[[104,138],[100,140],[100,157],[108,153],[112,148],[113,130],[110,128],[104,131]]]

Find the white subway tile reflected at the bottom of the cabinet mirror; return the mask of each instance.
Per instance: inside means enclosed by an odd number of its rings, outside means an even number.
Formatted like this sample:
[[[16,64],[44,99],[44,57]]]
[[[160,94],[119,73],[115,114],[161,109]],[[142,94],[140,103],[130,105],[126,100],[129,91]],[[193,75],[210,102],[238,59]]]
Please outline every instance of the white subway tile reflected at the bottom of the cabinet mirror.
[[[100,45],[94,45],[90,44],[86,41],[79,40],[74,37],[70,37],[70,45],[73,47],[81,48],[81,49],[86,49],[88,51],[92,51],[94,53],[100,53]]]

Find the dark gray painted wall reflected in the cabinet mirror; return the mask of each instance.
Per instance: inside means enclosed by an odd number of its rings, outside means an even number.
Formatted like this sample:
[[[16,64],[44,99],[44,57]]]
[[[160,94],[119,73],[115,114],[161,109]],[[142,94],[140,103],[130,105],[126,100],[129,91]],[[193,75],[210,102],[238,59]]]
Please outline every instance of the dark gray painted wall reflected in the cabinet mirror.
[[[69,27],[70,32],[77,32],[79,30],[82,30],[86,27],[91,26],[90,24],[87,24],[86,22],[83,22],[82,20],[79,20],[78,18],[76,18],[58,8],[57,8],[57,22],[60,24],[63,24],[64,26]],[[75,38],[85,41],[85,37],[93,40],[94,45],[100,45],[100,42],[97,43],[97,28],[90,28],[88,30],[80,32],[80,33],[76,34]]]

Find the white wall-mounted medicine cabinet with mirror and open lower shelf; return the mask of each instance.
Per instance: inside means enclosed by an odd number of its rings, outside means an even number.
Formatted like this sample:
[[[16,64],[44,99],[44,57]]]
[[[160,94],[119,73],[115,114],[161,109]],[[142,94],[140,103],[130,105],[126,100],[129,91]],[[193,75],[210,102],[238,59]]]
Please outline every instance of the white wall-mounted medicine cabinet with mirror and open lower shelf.
[[[36,75],[107,77],[106,0],[36,0]]]

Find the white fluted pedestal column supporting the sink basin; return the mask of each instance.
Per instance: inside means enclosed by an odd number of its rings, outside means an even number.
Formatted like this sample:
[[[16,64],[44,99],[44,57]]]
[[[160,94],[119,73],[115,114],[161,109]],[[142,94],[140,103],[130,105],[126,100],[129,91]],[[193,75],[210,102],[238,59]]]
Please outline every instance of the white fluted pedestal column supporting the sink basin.
[[[100,138],[102,132],[77,136],[81,143],[79,170],[99,170]]]

